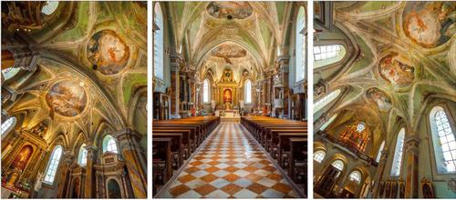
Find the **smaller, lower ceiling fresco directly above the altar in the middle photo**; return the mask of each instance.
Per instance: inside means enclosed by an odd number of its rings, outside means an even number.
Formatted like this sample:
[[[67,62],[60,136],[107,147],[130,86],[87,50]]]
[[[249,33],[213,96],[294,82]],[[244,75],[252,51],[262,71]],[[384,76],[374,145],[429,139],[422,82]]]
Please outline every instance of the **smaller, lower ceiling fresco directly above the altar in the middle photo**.
[[[247,55],[247,51],[240,45],[235,45],[232,43],[227,43],[223,45],[218,45],[217,47],[211,50],[211,55],[216,57],[221,57],[227,64],[232,64],[230,58],[239,58]]]

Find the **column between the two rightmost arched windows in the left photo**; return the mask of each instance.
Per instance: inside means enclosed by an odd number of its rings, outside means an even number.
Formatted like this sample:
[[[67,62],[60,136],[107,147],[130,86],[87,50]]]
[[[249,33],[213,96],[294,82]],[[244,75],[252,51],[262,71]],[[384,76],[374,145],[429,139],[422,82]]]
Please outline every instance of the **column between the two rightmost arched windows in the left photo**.
[[[87,149],[87,165],[86,165],[86,183],[84,185],[84,196],[86,198],[95,198],[96,194],[96,177],[95,166],[97,164],[97,146],[89,144],[84,148]]]

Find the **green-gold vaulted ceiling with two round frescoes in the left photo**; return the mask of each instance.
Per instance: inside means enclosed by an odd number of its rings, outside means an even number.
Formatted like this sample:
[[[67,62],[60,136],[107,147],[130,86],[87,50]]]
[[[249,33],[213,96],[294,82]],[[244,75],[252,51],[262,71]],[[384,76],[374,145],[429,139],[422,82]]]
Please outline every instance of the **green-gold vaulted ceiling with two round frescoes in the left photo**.
[[[2,49],[24,45],[40,55],[35,71],[3,83],[20,94],[3,107],[22,128],[46,125],[47,143],[62,137],[67,144],[79,137],[95,143],[100,132],[126,127],[146,134],[146,3],[59,2],[50,15],[38,12],[42,25],[30,31],[14,20],[14,9],[3,8],[3,27],[13,28],[3,31]]]

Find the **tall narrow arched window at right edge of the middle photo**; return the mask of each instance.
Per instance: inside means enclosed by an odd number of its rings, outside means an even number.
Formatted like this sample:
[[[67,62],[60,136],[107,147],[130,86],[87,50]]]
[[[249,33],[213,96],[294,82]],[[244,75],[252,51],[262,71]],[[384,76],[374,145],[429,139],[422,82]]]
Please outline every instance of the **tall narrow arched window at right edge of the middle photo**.
[[[295,41],[295,57],[296,57],[296,82],[304,79],[306,68],[306,36],[304,28],[306,26],[306,13],[304,6],[299,7],[296,23],[296,41]]]

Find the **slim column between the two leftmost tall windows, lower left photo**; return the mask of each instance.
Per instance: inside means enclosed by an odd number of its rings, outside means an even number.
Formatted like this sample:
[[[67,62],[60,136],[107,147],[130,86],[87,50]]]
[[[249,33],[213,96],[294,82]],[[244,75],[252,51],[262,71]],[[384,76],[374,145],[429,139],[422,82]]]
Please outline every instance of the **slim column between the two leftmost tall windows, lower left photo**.
[[[69,182],[70,182],[70,174],[71,174],[71,165],[73,165],[75,161],[75,153],[72,151],[65,151],[63,153],[63,162],[61,165],[61,179],[60,183],[58,184],[58,187],[61,188],[59,190],[59,194],[57,195],[59,198],[66,198],[67,197],[67,192],[68,192],[68,187],[69,187]]]

